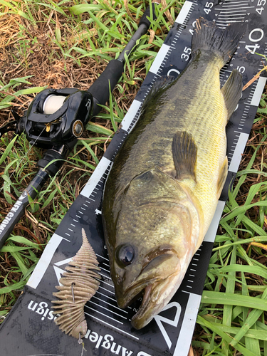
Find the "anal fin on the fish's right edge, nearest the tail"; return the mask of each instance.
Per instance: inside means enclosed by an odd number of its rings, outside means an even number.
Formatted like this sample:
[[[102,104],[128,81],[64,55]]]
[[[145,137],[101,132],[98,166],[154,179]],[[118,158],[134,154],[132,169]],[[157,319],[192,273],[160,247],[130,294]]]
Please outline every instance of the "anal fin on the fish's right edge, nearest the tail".
[[[238,70],[234,69],[232,71],[226,83],[221,88],[221,93],[224,95],[224,101],[228,111],[227,120],[229,120],[236,105],[239,103],[242,93],[242,75]]]

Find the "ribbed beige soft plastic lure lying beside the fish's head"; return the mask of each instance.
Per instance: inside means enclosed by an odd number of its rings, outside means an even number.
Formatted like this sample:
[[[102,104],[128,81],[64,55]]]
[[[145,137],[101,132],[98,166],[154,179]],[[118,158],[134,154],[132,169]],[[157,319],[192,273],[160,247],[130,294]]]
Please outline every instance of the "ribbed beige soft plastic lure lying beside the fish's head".
[[[60,283],[63,286],[56,286],[59,290],[53,293],[58,300],[52,300],[56,311],[54,314],[61,314],[56,318],[56,324],[68,335],[76,337],[79,342],[87,332],[87,323],[84,314],[85,303],[93,297],[98,290],[100,282],[95,278],[101,278],[98,267],[98,260],[93,248],[90,246],[85,230],[82,229],[83,244],[80,250],[70,261],[63,273]]]

